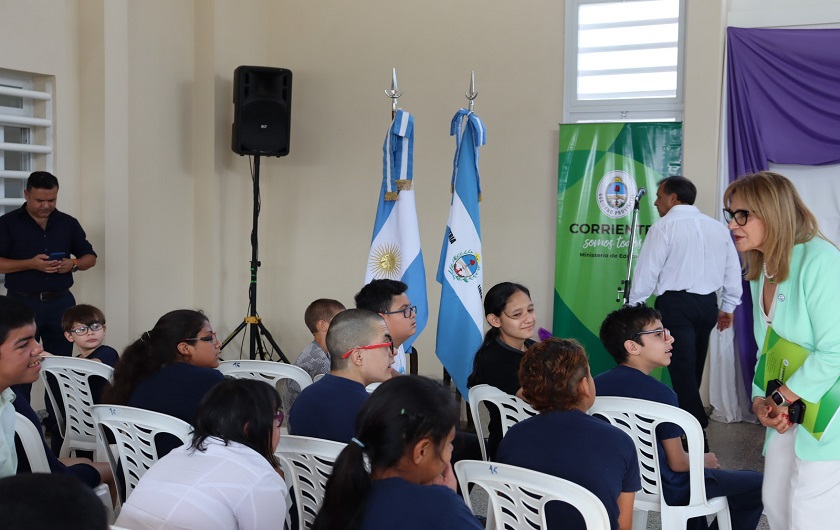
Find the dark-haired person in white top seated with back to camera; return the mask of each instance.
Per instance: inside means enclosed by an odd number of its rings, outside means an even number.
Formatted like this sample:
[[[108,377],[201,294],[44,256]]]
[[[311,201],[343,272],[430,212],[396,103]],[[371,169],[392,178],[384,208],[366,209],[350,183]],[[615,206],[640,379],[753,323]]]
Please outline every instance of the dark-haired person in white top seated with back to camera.
[[[282,528],[286,483],[274,450],[280,395],[261,381],[226,379],[201,401],[193,439],[149,469],[116,525],[133,530]]]

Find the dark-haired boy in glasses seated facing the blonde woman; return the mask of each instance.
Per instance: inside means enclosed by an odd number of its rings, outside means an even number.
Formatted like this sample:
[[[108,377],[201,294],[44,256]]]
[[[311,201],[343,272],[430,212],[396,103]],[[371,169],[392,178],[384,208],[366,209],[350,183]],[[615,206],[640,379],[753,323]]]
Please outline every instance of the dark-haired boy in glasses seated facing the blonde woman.
[[[645,304],[613,311],[601,324],[600,338],[618,366],[595,377],[599,396],[644,399],[679,407],[677,395],[650,373],[671,363],[674,338],[662,326],[656,309]],[[679,426],[666,423],[657,428],[662,493],[671,505],[688,502],[688,454],[682,446]],[[763,505],[763,474],[755,471],[719,469],[714,453],[705,455],[706,496],[726,497],[734,530],[753,530]],[[716,523],[715,523],[716,524]],[[689,529],[707,528],[705,517],[691,519]]]

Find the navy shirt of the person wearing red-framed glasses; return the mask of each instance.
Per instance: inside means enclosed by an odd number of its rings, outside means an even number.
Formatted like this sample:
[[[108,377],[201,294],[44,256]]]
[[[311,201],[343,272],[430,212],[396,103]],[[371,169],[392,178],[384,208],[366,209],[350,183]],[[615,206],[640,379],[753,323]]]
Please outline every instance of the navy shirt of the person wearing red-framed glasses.
[[[289,434],[350,443],[356,413],[367,398],[361,383],[326,374],[298,395],[289,411]]]

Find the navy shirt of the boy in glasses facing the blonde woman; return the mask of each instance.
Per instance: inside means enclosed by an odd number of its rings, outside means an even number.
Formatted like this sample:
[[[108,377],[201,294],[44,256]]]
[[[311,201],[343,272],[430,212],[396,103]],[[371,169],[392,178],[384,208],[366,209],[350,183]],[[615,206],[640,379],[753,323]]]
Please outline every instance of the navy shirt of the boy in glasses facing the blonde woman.
[[[599,396],[618,396],[644,399],[664,403],[679,408],[677,394],[667,385],[658,381],[641,370],[620,364],[602,374],[595,376],[595,389]],[[656,428],[657,440],[679,438],[683,430],[673,423],[661,423]],[[687,472],[672,471],[665,459],[665,449],[662,443],[657,443],[660,465],[659,474],[662,477],[662,493],[668,504],[685,504],[688,502],[690,488]]]

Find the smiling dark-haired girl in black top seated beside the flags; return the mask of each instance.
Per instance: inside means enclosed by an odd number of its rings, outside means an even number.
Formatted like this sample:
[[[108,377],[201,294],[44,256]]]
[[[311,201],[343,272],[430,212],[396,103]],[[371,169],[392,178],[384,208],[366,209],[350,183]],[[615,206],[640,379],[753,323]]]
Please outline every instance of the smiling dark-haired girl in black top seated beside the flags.
[[[484,315],[490,329],[473,360],[473,373],[467,386],[492,385],[508,394],[519,391],[519,363],[534,340],[537,318],[531,292],[524,285],[502,282],[484,295]],[[490,439],[487,450],[492,459],[502,440],[501,415],[496,407],[490,412]],[[479,421],[478,418],[473,418]]]

